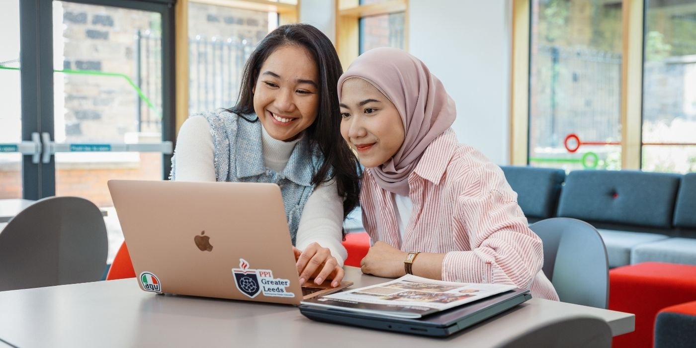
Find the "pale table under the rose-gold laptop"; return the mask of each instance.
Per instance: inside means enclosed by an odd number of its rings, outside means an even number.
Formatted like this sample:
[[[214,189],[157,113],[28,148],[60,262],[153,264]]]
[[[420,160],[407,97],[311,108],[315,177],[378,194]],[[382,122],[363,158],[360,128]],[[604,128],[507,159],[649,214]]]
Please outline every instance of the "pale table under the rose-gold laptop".
[[[354,287],[385,281],[345,269]],[[491,347],[578,314],[606,320],[613,335],[635,325],[629,313],[531,299],[450,338],[426,338],[313,322],[293,306],[152,294],[135,278],[0,292],[0,308],[0,338],[17,347]]]

